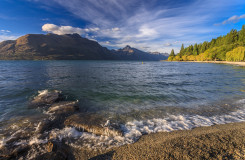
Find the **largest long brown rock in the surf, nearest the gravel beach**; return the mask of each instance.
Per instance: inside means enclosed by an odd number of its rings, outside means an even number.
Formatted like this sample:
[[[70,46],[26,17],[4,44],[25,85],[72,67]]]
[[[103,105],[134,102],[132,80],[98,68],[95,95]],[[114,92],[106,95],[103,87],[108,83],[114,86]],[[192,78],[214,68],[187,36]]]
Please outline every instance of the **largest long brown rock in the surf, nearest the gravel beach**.
[[[64,124],[66,126],[82,129],[83,131],[91,132],[96,135],[105,135],[111,137],[123,135],[118,124],[111,123],[108,119],[99,114],[74,114],[69,116],[65,120]]]

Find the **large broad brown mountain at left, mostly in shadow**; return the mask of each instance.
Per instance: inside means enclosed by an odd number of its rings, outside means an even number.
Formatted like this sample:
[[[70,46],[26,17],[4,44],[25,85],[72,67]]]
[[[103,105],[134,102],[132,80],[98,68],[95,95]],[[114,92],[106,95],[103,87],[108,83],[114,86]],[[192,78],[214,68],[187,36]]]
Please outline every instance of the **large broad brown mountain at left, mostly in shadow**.
[[[78,34],[28,34],[0,43],[1,59],[108,59],[109,50]]]

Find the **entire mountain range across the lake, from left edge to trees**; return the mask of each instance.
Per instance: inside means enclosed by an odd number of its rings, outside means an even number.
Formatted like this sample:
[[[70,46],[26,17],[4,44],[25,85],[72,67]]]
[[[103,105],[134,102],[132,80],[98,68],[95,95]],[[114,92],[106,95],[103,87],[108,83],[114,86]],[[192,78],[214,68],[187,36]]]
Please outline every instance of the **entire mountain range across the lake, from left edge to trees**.
[[[125,47],[126,48],[126,47]],[[131,47],[130,47],[131,48]],[[0,43],[2,60],[162,60],[135,48],[109,50],[79,34],[27,34]]]

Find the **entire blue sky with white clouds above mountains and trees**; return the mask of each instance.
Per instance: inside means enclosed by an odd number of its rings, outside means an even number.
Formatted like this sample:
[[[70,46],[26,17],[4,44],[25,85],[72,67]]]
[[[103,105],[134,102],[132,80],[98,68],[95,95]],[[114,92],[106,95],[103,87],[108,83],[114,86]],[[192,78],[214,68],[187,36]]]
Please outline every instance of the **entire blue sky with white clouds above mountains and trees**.
[[[0,0],[0,42],[78,33],[109,49],[177,53],[243,24],[244,0]]]

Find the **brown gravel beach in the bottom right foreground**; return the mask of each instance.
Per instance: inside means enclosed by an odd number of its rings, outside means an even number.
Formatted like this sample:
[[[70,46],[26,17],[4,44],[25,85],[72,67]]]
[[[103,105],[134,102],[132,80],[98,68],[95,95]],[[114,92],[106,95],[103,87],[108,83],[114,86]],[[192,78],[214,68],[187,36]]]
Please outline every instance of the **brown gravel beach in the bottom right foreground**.
[[[78,158],[88,151],[80,153]],[[133,144],[89,154],[88,159],[243,159],[245,122],[152,133]]]

